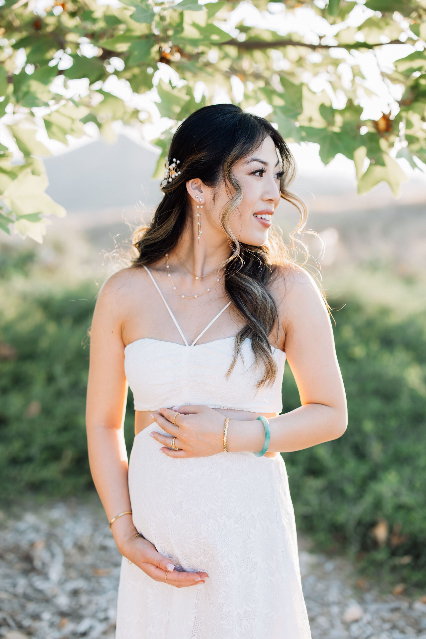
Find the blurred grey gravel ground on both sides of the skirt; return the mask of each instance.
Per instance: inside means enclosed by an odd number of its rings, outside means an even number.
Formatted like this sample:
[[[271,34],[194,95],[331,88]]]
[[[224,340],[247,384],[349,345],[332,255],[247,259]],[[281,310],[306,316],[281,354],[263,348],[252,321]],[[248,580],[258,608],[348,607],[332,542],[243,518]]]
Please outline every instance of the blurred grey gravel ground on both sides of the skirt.
[[[299,545],[312,639],[426,639],[426,597],[380,594],[345,558]],[[112,639],[120,560],[98,504],[2,513],[0,636]]]

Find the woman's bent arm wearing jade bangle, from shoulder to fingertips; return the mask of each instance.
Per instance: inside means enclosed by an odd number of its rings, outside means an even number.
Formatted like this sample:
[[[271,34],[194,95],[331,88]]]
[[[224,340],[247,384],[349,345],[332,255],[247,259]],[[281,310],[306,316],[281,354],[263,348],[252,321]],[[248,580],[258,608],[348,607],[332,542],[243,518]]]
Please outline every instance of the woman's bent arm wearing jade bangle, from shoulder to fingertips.
[[[290,452],[340,437],[347,426],[346,395],[335,353],[333,330],[324,300],[314,280],[304,270],[285,277],[285,353],[296,380],[301,406],[269,420],[269,452]],[[181,451],[169,449],[169,438],[156,433],[171,457],[206,456],[223,450],[224,419],[202,406],[185,406],[179,412],[176,429],[170,422],[174,412],[161,409],[155,420],[176,436]],[[190,414],[197,413],[197,414]],[[167,418],[167,419],[164,419]],[[259,420],[230,420],[229,452],[262,449],[264,427]]]

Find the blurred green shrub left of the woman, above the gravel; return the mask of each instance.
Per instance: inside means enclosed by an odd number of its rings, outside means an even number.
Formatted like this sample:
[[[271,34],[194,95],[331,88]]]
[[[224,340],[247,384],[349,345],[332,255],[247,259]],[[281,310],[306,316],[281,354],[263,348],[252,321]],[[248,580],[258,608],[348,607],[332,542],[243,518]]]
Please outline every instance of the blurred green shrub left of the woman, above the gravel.
[[[93,283],[26,293],[0,320],[0,483],[5,500],[27,491],[79,494],[93,486],[84,419]],[[13,353],[13,350],[15,353]],[[129,398],[129,403],[132,399]],[[126,436],[132,438],[132,412]]]

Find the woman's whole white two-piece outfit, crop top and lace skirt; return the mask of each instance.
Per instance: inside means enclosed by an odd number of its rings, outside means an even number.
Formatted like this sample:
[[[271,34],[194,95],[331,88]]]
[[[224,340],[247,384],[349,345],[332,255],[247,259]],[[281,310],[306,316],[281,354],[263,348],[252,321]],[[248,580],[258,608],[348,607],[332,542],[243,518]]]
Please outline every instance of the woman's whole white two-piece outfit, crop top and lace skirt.
[[[158,293],[162,296],[151,272]],[[139,339],[125,348],[135,410],[205,404],[256,413],[282,410],[285,353],[278,375],[257,390],[250,341],[231,376],[234,337],[196,345]],[[220,452],[173,459],[141,431],[130,455],[133,523],[178,570],[209,578],[188,588],[151,579],[123,558],[116,639],[310,639],[301,590],[296,526],[282,457]]]

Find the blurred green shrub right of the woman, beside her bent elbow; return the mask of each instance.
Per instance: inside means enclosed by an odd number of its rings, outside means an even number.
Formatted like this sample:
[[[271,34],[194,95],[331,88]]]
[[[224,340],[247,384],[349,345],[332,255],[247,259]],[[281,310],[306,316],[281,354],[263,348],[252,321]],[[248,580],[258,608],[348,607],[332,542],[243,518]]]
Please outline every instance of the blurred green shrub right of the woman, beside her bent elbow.
[[[284,454],[298,527],[358,551],[369,571],[425,585],[426,320],[350,300],[335,319],[349,424],[339,440]],[[288,369],[283,398],[284,412],[300,405]]]

